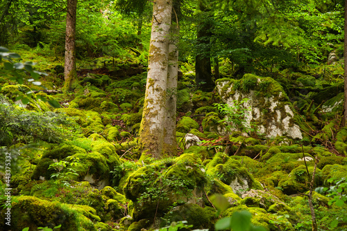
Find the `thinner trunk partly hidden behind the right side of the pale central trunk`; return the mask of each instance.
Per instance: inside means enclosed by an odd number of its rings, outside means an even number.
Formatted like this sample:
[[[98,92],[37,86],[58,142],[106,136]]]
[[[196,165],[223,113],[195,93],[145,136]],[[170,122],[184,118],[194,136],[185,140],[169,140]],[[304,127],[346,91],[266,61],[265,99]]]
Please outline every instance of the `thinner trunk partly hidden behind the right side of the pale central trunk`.
[[[165,155],[176,156],[176,100],[178,80],[178,34],[177,24],[170,28],[169,66],[167,73],[167,103],[164,120],[164,151]]]

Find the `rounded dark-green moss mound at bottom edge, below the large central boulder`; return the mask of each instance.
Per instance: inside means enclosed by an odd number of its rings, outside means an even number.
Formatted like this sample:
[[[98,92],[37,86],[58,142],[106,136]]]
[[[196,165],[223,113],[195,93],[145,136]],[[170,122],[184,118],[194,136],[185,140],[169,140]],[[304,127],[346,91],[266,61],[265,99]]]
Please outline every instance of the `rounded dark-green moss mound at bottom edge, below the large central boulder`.
[[[187,221],[187,225],[193,225],[193,229],[211,228],[213,216],[212,212],[195,204],[178,205],[163,217],[160,227],[172,222]]]

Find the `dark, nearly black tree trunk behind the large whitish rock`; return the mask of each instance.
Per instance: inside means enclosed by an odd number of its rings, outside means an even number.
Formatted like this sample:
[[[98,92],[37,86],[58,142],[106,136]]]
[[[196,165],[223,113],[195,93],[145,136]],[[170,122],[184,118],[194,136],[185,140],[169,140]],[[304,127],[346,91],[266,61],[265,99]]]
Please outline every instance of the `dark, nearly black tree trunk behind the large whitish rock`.
[[[201,11],[206,12],[206,8],[199,5]],[[203,21],[196,33],[198,44],[198,55],[195,57],[195,82],[199,89],[204,91],[212,91],[214,89],[214,82],[212,81],[211,73],[211,46],[210,37],[211,24],[208,20]]]

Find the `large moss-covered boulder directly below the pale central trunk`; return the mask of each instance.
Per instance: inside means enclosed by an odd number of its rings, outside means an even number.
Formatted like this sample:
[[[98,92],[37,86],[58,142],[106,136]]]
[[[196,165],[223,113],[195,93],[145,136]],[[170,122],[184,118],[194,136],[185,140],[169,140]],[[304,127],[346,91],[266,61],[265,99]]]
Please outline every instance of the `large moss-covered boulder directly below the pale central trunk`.
[[[183,154],[175,159],[158,160],[140,167],[130,174],[124,194],[134,202],[133,218],[151,218],[167,212],[174,203],[201,203],[201,189],[205,177],[194,154]],[[195,197],[196,196],[196,197]]]

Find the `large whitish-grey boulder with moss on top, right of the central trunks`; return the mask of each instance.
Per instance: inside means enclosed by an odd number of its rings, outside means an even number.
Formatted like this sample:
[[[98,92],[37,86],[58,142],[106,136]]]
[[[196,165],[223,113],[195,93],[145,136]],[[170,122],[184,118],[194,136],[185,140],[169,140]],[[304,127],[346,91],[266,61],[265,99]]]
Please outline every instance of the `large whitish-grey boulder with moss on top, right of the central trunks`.
[[[294,115],[294,108],[289,102],[282,86],[270,77],[257,77],[246,74],[242,80],[217,80],[217,91],[223,102],[234,107],[235,100],[244,98],[250,100],[241,106],[251,109],[245,122],[257,123],[257,132],[264,133],[268,138],[276,136],[289,136],[290,138],[303,138],[298,121],[301,118]],[[301,129],[306,129],[303,127]]]

